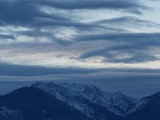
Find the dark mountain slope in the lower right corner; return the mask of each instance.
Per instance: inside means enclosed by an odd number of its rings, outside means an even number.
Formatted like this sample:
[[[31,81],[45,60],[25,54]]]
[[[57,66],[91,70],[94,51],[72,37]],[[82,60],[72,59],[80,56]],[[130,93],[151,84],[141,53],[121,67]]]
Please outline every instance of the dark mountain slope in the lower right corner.
[[[160,92],[138,101],[125,120],[160,120]]]

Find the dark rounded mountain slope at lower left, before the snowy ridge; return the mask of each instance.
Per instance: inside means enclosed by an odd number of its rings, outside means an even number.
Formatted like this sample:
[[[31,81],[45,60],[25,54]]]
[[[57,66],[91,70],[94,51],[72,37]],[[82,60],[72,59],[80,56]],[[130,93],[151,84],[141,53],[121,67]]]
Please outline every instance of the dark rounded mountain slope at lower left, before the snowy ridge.
[[[43,90],[24,87],[0,96],[0,120],[91,119]]]

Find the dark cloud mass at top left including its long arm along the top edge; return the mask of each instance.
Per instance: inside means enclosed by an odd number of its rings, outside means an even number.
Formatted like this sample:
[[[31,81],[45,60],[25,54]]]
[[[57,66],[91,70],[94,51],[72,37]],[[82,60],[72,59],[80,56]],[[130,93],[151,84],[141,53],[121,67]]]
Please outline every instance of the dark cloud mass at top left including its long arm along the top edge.
[[[127,0],[100,0],[100,1],[51,1],[51,0],[1,0],[0,24],[1,25],[69,25],[67,16],[45,13],[40,8],[50,6],[59,9],[132,9],[143,8],[137,1]],[[63,22],[61,22],[63,21]],[[37,23],[37,24],[36,24]]]

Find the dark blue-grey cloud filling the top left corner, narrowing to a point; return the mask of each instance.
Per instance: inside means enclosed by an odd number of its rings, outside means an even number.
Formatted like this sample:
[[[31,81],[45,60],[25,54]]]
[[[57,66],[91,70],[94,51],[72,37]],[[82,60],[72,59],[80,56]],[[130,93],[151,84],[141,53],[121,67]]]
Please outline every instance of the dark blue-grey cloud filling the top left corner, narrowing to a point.
[[[33,0],[34,1],[34,0]],[[43,19],[66,20],[54,14],[48,14],[40,11],[37,4],[32,4],[33,1],[26,0],[1,0],[0,1],[0,24],[1,25],[22,25],[32,26],[37,21]],[[42,20],[41,20],[42,19]],[[47,22],[43,21],[43,22]]]

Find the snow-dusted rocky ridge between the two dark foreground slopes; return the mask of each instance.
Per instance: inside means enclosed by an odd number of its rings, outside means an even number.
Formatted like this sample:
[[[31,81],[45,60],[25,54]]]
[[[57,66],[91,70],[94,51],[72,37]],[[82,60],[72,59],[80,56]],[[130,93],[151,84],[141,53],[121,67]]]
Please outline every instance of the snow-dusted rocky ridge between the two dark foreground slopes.
[[[113,114],[122,117],[127,116],[138,101],[135,98],[131,98],[119,92],[104,92],[91,85],[38,82],[33,84],[33,86],[48,92],[57,99],[67,103],[69,106],[80,110],[88,117],[92,116],[95,111],[86,101],[103,106]]]

